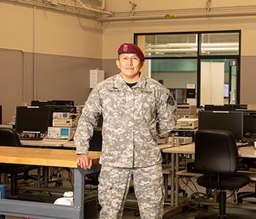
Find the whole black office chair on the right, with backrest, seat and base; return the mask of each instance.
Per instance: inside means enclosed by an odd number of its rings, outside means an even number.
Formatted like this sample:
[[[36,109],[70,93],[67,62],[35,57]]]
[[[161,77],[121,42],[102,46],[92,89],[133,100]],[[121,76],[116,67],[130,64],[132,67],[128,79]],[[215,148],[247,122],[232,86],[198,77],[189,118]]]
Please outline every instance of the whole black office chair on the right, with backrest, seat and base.
[[[249,183],[249,177],[237,174],[238,150],[233,134],[226,130],[200,129],[195,134],[195,169],[203,174],[197,184],[207,191],[219,191],[219,215],[215,218],[236,218],[226,215],[226,191],[234,191]],[[199,215],[195,218],[212,218]]]

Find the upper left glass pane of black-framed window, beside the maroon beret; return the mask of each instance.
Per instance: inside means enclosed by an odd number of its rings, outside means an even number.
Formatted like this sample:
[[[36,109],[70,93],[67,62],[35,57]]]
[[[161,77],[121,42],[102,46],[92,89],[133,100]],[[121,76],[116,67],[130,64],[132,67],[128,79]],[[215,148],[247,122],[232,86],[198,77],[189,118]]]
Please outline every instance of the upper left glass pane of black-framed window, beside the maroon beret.
[[[197,56],[197,34],[156,34],[138,36],[146,58]]]

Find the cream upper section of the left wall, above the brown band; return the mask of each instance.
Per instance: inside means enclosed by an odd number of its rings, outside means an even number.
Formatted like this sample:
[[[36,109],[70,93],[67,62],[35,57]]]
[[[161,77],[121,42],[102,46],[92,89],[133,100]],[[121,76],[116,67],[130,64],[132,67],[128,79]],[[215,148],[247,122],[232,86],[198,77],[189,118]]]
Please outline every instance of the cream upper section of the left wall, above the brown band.
[[[97,20],[0,2],[0,26],[0,48],[102,58],[102,31]]]

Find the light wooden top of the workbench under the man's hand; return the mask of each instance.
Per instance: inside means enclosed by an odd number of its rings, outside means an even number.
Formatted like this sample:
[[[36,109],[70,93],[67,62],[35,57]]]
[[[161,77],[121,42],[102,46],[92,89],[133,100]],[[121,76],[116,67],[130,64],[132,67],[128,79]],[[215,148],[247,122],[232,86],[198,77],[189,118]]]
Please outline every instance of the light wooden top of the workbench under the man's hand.
[[[100,152],[89,152],[93,164],[99,163]],[[30,164],[77,168],[75,150],[0,146],[0,163]]]

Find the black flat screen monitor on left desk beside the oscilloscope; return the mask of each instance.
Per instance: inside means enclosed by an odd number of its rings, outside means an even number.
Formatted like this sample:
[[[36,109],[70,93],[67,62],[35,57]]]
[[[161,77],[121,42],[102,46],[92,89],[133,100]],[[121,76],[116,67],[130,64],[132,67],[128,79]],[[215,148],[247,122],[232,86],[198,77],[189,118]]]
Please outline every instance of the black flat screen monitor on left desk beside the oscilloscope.
[[[18,133],[44,134],[50,123],[49,107],[17,107],[15,130]]]

